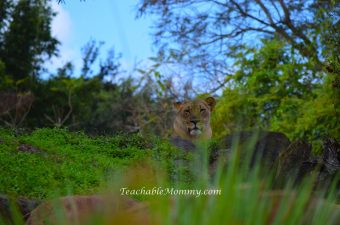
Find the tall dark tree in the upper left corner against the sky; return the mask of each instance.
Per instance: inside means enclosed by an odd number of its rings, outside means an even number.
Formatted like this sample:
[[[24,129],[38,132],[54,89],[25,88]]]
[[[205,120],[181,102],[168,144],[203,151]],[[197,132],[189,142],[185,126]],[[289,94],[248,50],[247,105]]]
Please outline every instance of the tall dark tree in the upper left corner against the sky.
[[[13,10],[8,1],[1,4],[0,60],[6,74],[14,81],[35,79],[44,60],[57,54],[58,41],[51,35],[54,13],[47,0],[20,0]]]

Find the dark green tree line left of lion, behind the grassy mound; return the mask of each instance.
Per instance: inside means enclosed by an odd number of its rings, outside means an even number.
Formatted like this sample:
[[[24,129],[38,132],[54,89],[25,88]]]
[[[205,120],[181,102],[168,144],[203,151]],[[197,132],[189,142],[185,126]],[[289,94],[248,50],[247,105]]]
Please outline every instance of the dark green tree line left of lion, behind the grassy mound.
[[[35,79],[30,83],[35,101],[25,121],[11,127],[69,127],[91,134],[140,131],[169,136],[173,97],[165,90],[155,96],[159,82],[147,75],[138,82],[124,77],[120,56],[113,49],[106,59],[99,58],[102,44],[90,40],[83,47],[83,65],[79,73],[71,63],[66,63],[47,80]],[[12,90],[10,93],[18,96],[25,94],[21,87],[30,78],[15,81],[6,75],[5,68],[6,64],[1,63],[3,76],[0,79],[3,82],[0,90]],[[13,123],[2,116],[1,124],[9,126]]]

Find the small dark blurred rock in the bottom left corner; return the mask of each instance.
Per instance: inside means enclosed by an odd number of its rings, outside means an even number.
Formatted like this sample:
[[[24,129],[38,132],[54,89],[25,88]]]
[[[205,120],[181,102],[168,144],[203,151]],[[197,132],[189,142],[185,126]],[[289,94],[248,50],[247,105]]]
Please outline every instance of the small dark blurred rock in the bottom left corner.
[[[5,195],[0,195],[0,216],[6,222],[6,224],[14,224],[13,219],[13,207],[18,210],[19,214],[23,216],[23,219],[27,219],[30,212],[36,208],[41,201],[35,199],[10,199]]]

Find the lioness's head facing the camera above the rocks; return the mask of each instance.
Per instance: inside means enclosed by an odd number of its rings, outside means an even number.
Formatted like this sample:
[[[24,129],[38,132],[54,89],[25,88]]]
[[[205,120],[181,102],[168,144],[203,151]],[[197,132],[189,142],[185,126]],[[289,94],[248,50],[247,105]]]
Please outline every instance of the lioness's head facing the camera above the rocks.
[[[185,140],[211,138],[210,115],[215,104],[213,97],[176,102],[174,106],[178,111],[174,122],[174,135]]]

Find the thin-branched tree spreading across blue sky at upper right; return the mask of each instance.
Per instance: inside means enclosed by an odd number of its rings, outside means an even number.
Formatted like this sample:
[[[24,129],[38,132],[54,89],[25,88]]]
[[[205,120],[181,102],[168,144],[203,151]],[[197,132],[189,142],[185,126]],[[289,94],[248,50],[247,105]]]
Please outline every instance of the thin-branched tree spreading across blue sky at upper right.
[[[155,43],[163,63],[189,65],[190,73],[208,74],[217,89],[229,80],[242,46],[260,38],[285,40],[295,57],[315,71],[328,66],[325,35],[339,24],[340,3],[319,0],[142,0],[139,15],[157,15]],[[339,43],[339,41],[338,41]]]

